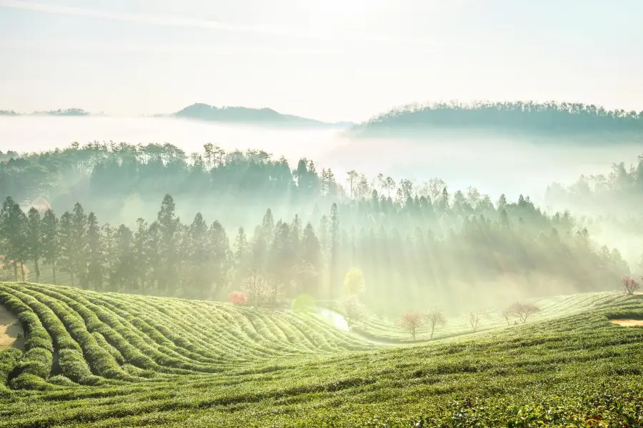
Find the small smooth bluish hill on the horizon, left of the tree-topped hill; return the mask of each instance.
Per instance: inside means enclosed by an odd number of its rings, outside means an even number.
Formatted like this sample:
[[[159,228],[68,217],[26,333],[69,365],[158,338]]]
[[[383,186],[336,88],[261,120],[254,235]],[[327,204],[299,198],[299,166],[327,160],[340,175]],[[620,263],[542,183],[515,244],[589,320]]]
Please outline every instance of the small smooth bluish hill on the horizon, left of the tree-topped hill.
[[[279,113],[271,108],[249,107],[216,107],[204,103],[194,103],[173,115],[176,118],[196,119],[199,121],[225,123],[260,123],[273,126],[302,126],[302,127],[334,127],[352,126],[353,123],[328,123],[316,119],[304,118],[290,114]]]

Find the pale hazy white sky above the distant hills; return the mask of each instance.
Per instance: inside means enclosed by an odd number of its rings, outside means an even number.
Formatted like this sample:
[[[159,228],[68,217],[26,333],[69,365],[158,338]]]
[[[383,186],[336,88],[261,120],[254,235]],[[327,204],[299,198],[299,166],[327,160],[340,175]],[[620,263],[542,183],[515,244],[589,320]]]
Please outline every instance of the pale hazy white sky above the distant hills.
[[[412,101],[643,109],[640,0],[0,0],[0,109]]]

